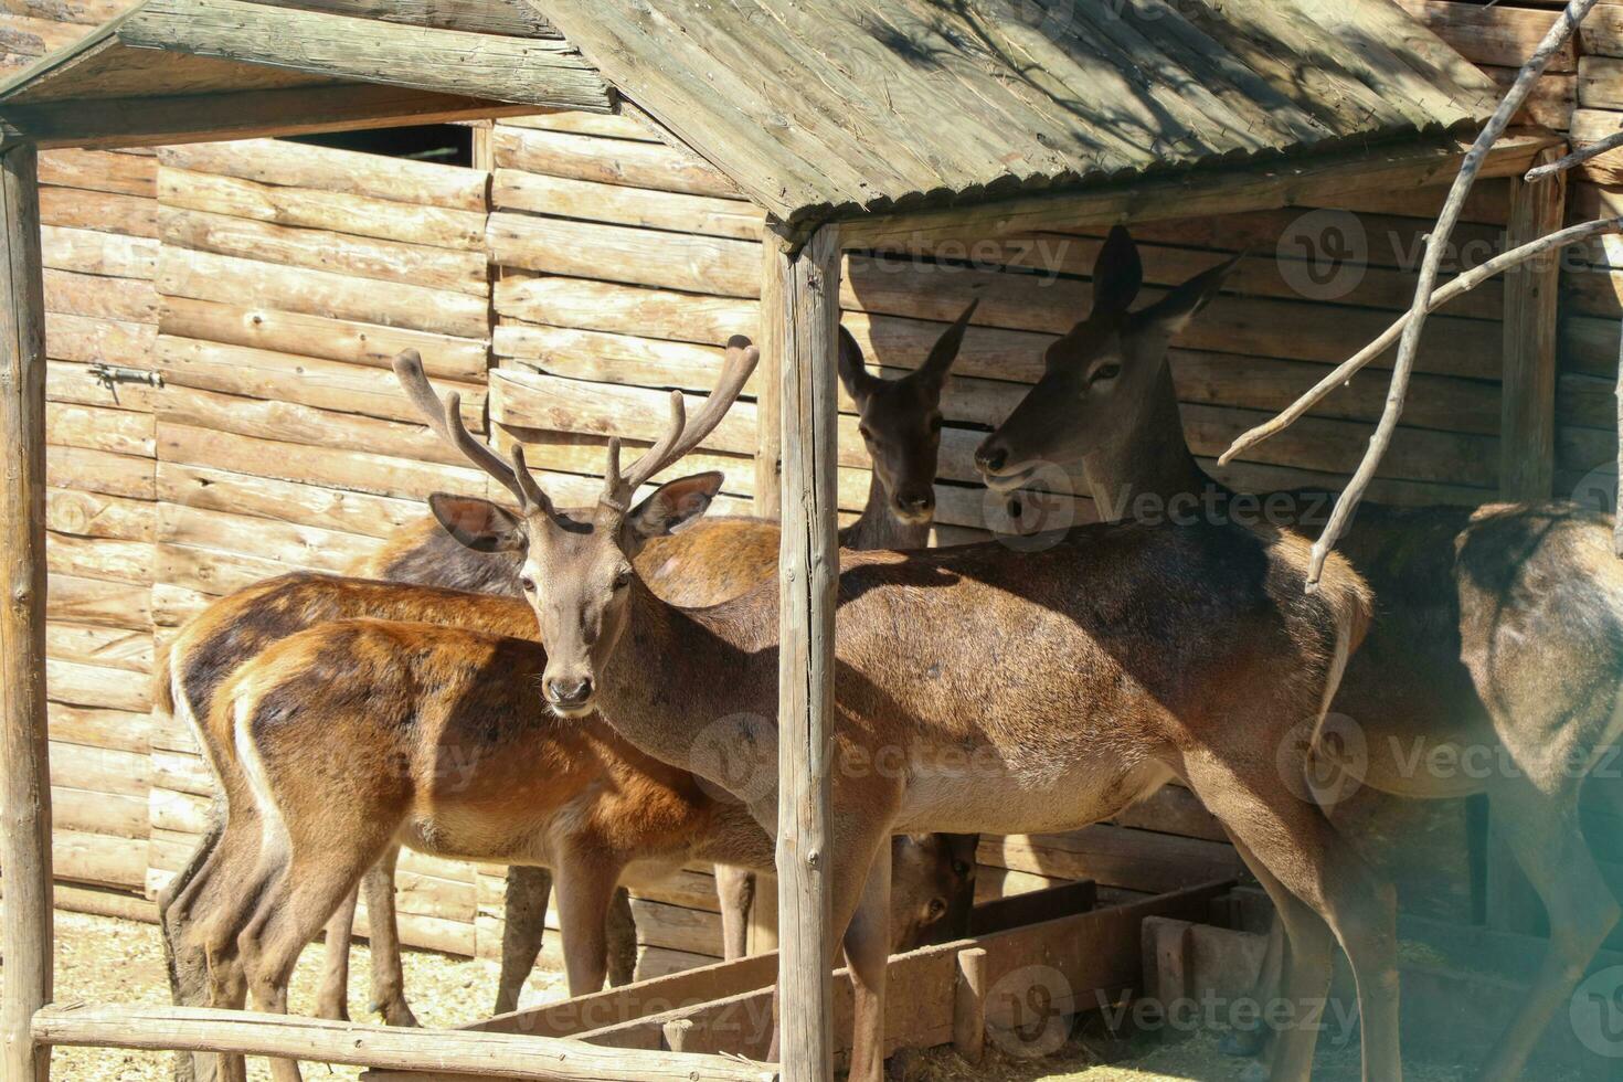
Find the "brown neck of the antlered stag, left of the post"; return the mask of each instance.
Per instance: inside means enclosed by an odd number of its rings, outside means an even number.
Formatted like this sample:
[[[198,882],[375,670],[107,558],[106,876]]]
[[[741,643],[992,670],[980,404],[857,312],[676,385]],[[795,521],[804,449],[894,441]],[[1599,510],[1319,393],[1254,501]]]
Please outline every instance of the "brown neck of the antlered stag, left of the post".
[[[706,774],[730,738],[717,725],[760,719],[776,733],[776,650],[758,649],[777,631],[776,605],[738,602],[683,610],[633,577],[626,626],[599,673],[599,711],[631,745],[664,762]],[[768,582],[753,597],[769,592]],[[760,608],[760,612],[756,612]],[[764,735],[764,733],[763,733]],[[774,759],[776,762],[776,759]]]

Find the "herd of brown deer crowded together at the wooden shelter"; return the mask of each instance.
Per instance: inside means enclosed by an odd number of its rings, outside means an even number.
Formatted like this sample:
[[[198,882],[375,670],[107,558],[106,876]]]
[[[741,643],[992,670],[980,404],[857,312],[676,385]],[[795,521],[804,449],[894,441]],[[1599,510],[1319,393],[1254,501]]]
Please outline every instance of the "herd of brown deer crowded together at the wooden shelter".
[[[1100,508],[1216,493],[1220,509],[1227,490],[1183,438],[1167,347],[1229,266],[1134,311],[1138,251],[1113,230],[1092,311],[977,451],[988,485],[1081,462]],[[1326,769],[1383,793],[1488,795],[1550,912],[1543,968],[1483,1069],[1521,1077],[1620,912],[1578,824],[1587,766],[1623,727],[1610,524],[1561,503],[1365,506],[1311,592],[1290,522],[1227,514],[1083,526],[1040,552],[925,550],[940,397],[971,311],[896,381],[868,375],[841,334],[875,464],[841,537],[836,618],[828,874],[855,991],[850,1077],[883,1076],[891,951],[962,934],[975,834],[1081,827],[1173,779],[1224,824],[1289,942],[1259,988],[1302,1011],[1274,1035],[1271,1076],[1308,1077],[1339,944],[1363,1077],[1402,1077],[1394,892],[1337,832],[1336,808],[1303,792]],[[725,949],[743,951],[750,876],[773,871],[777,822],[777,526],[700,519],[714,472],[633,498],[709,435],[756,359],[729,342],[700,415],[687,422],[674,394],[669,430],[626,467],[612,440],[596,505],[575,509],[553,506],[521,449],[508,462],[474,438],[415,357],[396,362],[428,425],[514,506],[435,496],[433,521],[360,577],[260,584],[174,642],[161,698],[221,792],[161,900],[180,1003],[240,1007],[252,993],[286,1011],[294,964],[326,925],[321,1004],[341,1015],[365,882],[375,999],[411,1024],[393,923],[401,845],[550,869],[510,879],[498,1009],[534,960],[549,884],[571,994],[630,978],[617,889],[690,861],[717,866]],[[1326,761],[1334,748],[1315,741],[1332,701],[1362,727],[1367,762]],[[730,762],[709,754],[716,741]],[[1415,741],[1492,748],[1514,769],[1427,772]],[[841,769],[878,761],[899,767]],[[299,1079],[292,1061],[271,1066]],[[240,1056],[177,1069],[245,1077]]]

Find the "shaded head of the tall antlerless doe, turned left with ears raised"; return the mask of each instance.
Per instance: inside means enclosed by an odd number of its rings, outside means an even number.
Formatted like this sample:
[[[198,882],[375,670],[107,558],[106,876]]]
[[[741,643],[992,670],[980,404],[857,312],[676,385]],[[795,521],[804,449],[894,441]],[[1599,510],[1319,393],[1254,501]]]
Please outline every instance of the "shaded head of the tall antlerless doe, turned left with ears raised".
[[[1039,464],[1079,462],[1110,433],[1131,432],[1167,371],[1167,346],[1217,295],[1238,260],[1128,311],[1144,269],[1126,229],[1112,229],[1094,263],[1092,311],[1048,346],[1042,378],[975,449],[987,485],[1019,488]]]

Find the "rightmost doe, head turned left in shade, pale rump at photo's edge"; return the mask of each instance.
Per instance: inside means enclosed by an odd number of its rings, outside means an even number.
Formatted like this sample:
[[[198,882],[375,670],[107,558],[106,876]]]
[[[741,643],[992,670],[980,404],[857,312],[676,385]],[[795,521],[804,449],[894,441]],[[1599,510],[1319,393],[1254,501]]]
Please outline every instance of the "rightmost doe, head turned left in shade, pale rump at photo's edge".
[[[1190,303],[1212,300],[1237,260],[1180,287]],[[988,485],[1014,492],[1037,464],[1081,462],[1102,514],[1164,514],[1180,501],[1243,514],[1190,451],[1159,305],[1130,311],[1141,282],[1138,247],[1117,227],[1094,268],[1092,311],[1048,347],[1044,376],[977,449]],[[1248,506],[1294,521],[1328,498],[1298,492]],[[1623,735],[1623,565],[1612,524],[1565,501],[1363,503],[1341,550],[1381,600],[1336,696],[1336,711],[1362,728],[1367,762],[1321,743],[1313,775],[1321,792],[1347,793],[1350,782],[1365,798],[1487,796],[1550,917],[1532,990],[1479,1076],[1521,1079],[1620,915],[1578,814],[1586,774]],[[1431,767],[1472,749],[1508,766]],[[1433,758],[1440,751],[1449,754]],[[1331,801],[1331,814],[1347,806]],[[1276,926],[1266,970],[1279,952]],[[1274,994],[1266,970],[1264,1003]]]

